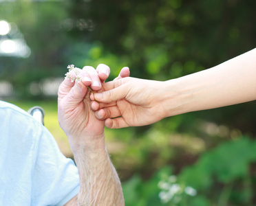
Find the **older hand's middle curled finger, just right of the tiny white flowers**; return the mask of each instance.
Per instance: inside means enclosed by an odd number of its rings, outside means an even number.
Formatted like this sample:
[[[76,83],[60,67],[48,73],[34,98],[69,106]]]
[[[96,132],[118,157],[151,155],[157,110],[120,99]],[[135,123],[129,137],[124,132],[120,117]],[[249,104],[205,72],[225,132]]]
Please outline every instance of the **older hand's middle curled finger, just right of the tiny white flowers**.
[[[98,77],[98,72],[94,69],[94,67],[85,66],[83,67],[83,71],[81,73],[83,73],[83,80],[87,80],[87,81],[89,79],[92,80],[92,84],[91,84],[92,90],[98,91],[101,89],[100,78]],[[86,86],[89,86],[89,85],[86,85]]]

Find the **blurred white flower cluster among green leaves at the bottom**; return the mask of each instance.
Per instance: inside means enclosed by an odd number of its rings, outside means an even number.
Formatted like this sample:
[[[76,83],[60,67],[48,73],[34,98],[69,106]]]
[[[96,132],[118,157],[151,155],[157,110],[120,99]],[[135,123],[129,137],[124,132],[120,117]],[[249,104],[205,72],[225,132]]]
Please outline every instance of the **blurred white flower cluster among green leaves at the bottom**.
[[[189,196],[195,196],[197,191],[190,186],[180,185],[177,183],[177,177],[175,175],[169,176],[167,181],[160,181],[158,187],[162,190],[159,193],[159,198],[162,203],[179,203],[182,200],[182,195],[187,194]]]

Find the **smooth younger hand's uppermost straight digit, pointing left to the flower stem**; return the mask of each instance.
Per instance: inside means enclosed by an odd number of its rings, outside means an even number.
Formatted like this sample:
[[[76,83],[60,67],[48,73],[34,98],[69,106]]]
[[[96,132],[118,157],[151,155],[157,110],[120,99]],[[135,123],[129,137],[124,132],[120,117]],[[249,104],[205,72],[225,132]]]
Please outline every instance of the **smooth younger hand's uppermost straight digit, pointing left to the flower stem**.
[[[127,96],[129,89],[127,87],[116,87],[109,91],[103,91],[102,93],[94,93],[94,99],[98,102],[110,103],[117,100],[121,100]]]

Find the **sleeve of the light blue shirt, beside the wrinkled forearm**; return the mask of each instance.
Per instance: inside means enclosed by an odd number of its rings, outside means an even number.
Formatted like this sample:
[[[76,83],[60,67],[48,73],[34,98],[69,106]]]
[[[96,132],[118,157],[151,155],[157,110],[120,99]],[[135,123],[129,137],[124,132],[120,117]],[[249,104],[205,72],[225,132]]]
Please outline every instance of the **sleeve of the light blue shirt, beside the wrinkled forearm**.
[[[65,205],[78,194],[78,170],[43,126],[39,129],[32,176],[32,205]]]

